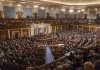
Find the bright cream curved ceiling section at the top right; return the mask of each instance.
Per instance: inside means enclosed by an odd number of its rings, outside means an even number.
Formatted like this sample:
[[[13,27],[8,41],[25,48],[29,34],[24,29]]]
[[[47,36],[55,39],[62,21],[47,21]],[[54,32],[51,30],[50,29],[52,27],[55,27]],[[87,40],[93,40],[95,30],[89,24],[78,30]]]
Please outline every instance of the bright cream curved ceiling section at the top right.
[[[45,2],[52,2],[64,5],[93,5],[100,4],[100,0],[42,0]]]

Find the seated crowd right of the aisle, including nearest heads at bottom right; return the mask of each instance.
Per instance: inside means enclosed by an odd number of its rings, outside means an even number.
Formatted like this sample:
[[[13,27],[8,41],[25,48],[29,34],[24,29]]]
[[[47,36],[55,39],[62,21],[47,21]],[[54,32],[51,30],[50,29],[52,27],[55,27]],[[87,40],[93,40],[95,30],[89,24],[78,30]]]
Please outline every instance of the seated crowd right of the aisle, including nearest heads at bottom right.
[[[57,43],[63,43],[66,61],[54,63],[43,70],[99,70],[100,34],[87,31],[68,30],[50,34],[57,37]],[[69,53],[70,52],[70,53]],[[87,65],[89,64],[89,65]],[[97,64],[97,65],[96,65]],[[89,67],[90,66],[90,67]],[[40,69],[42,70],[42,69]]]

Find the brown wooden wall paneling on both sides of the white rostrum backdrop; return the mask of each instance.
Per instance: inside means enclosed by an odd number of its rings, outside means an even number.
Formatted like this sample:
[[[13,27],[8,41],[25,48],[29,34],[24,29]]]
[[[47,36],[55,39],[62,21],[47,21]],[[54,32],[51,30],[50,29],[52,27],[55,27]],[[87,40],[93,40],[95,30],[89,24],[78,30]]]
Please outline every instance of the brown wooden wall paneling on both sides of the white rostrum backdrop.
[[[68,24],[51,24],[52,32],[61,31],[61,30],[67,30],[67,29],[77,29],[78,30],[84,30],[84,31],[96,31],[100,32],[99,26],[87,26],[87,25],[68,25]],[[8,38],[13,38],[15,34],[18,34],[19,36],[29,36],[30,31],[29,27],[25,28],[9,28],[9,29],[3,29],[0,30],[0,40],[5,40]]]

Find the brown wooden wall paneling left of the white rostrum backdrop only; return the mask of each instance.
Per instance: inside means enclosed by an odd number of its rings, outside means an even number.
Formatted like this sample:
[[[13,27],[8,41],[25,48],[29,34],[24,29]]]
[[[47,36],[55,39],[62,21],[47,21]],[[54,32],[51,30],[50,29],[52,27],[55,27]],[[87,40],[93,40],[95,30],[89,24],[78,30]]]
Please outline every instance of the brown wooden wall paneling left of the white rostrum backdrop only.
[[[0,41],[18,36],[29,36],[28,28],[15,28],[0,30]]]

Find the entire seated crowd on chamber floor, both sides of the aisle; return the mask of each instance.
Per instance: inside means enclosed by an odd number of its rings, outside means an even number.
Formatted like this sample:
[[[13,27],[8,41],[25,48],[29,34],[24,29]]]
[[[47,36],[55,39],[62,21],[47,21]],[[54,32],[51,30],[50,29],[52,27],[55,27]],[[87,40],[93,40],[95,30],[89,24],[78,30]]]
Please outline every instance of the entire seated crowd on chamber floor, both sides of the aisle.
[[[51,33],[47,36],[35,35],[32,37],[18,37],[0,42],[1,70],[17,69],[9,68],[11,67],[9,64],[19,66],[25,65],[23,67],[34,67],[44,64],[45,47],[41,47],[40,45],[41,41],[39,39],[41,37],[46,40],[47,38],[50,38],[50,42],[56,40],[55,45],[64,44],[61,47],[51,46],[55,60],[62,56],[67,56],[66,59],[68,59],[68,61],[65,60],[56,66],[52,66],[52,70],[59,70],[60,68],[62,68],[60,70],[66,70],[67,68],[69,70],[81,69],[85,62],[91,62],[94,64],[96,60],[100,59],[99,33],[67,30]]]

